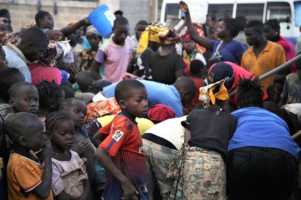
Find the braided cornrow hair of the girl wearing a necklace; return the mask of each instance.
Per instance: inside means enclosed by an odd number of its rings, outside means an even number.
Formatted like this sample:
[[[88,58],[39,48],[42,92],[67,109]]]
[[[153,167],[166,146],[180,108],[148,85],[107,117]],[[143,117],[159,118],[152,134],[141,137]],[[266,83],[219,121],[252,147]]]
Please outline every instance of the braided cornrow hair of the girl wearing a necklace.
[[[45,119],[45,128],[46,130],[51,131],[55,124],[66,120],[72,120],[72,118],[65,111],[60,110],[51,112]]]

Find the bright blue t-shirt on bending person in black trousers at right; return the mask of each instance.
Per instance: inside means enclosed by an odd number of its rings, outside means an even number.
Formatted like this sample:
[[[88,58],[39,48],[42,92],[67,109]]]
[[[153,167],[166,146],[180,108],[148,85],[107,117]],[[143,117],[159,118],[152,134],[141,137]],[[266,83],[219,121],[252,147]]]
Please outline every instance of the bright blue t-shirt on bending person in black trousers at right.
[[[237,126],[228,151],[246,146],[278,148],[298,159],[300,149],[283,119],[258,107],[239,109],[231,114],[237,118]]]

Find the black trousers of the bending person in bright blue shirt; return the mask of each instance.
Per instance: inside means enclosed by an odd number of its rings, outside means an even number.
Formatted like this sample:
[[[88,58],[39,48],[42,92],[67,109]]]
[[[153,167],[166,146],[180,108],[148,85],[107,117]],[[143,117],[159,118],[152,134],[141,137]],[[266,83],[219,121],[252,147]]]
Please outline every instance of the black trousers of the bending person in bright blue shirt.
[[[229,151],[232,200],[287,200],[297,183],[297,159],[277,148],[241,147]]]

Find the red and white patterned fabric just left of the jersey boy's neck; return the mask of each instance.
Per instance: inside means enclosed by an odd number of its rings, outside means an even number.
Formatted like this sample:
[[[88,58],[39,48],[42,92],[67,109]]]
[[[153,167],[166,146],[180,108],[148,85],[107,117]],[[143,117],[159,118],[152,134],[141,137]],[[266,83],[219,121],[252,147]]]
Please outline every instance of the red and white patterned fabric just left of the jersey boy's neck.
[[[87,105],[87,115],[85,124],[88,124],[92,120],[110,112],[113,115],[117,115],[119,112],[121,112],[121,109],[114,97],[89,103]]]

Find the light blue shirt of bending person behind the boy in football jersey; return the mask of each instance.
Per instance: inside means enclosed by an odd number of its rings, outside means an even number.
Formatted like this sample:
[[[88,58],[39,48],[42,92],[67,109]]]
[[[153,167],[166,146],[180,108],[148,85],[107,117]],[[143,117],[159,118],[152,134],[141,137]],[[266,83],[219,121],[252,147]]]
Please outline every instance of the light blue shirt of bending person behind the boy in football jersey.
[[[175,117],[183,116],[183,105],[181,97],[175,86],[165,85],[154,81],[140,80],[147,89],[148,108],[157,104],[169,106],[175,111]],[[107,98],[114,97],[115,87],[118,82],[104,87],[104,95]]]

